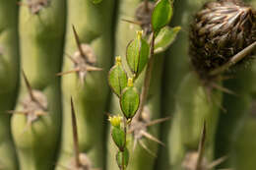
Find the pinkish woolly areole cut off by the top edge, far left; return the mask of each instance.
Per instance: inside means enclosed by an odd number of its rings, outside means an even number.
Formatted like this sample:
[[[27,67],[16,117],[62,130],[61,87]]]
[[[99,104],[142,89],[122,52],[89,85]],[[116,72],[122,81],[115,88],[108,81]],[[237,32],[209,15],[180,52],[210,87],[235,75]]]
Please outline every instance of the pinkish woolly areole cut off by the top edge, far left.
[[[50,0],[27,0],[32,14],[38,14],[40,10],[49,6]]]

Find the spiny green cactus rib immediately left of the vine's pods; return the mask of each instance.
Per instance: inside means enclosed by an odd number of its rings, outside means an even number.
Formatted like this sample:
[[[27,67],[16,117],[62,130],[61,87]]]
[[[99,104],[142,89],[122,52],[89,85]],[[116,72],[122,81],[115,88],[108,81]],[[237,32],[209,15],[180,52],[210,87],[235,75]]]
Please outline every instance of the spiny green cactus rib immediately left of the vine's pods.
[[[69,104],[72,95],[78,110],[79,149],[87,154],[94,167],[104,168],[103,130],[105,129],[104,115],[109,92],[106,73],[110,68],[113,56],[113,9],[114,1],[111,0],[104,0],[98,4],[88,0],[68,0],[65,53],[72,57],[81,56],[80,61],[84,65],[78,66],[78,71],[75,73],[62,77],[63,122],[58,164],[66,166],[73,157]],[[74,30],[76,30],[76,37]],[[93,52],[80,49],[85,45]],[[82,54],[83,52],[85,53]],[[94,57],[90,57],[93,53]],[[75,60],[65,56],[62,72],[67,73],[74,70],[74,64],[76,67]],[[91,68],[97,69],[90,70]],[[99,71],[98,68],[101,68],[102,71]],[[61,169],[61,167],[56,169]]]

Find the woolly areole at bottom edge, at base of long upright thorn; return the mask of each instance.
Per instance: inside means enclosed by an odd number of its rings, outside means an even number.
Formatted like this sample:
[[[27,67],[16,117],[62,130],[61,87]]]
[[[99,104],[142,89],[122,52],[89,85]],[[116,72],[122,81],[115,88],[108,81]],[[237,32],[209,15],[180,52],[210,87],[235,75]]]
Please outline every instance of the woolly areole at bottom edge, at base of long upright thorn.
[[[70,170],[93,170],[92,162],[85,153],[79,154],[81,165],[77,167],[76,159],[73,158],[70,162],[68,169]]]

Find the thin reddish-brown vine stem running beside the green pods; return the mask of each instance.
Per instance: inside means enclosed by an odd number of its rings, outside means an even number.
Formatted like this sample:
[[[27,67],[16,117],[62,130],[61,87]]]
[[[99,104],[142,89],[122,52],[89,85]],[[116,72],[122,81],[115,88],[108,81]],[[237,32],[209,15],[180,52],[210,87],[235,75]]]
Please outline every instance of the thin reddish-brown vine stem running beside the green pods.
[[[139,119],[141,118],[141,114],[143,112],[143,108],[144,108],[144,105],[148,96],[149,88],[151,85],[152,70],[154,66],[154,47],[155,47],[155,32],[153,31],[152,40],[151,40],[151,51],[150,51],[150,57],[149,57],[150,59],[146,68],[146,75],[145,75],[144,85],[142,87],[142,93],[141,93],[141,102],[140,102],[139,109],[137,111],[137,116]]]

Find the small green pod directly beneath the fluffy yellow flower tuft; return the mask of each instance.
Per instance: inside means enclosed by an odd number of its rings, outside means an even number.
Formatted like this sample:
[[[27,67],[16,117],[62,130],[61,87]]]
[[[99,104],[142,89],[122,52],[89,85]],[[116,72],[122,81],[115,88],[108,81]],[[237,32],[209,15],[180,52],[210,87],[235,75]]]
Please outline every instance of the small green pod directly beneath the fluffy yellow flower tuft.
[[[111,133],[112,139],[120,150],[125,146],[125,133],[120,127],[113,127]]]

